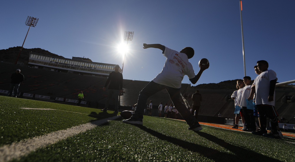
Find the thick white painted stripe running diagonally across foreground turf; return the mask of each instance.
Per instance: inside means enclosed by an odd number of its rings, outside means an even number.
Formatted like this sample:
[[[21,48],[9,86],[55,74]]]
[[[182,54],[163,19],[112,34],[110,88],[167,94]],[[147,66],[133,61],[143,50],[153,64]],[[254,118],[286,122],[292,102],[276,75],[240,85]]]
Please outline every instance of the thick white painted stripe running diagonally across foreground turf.
[[[72,128],[52,132],[31,139],[25,139],[24,141],[14,142],[11,145],[4,145],[0,147],[0,161],[5,162],[10,161],[13,158],[20,158],[21,156],[27,155],[31,151],[35,151],[38,148],[45,147],[49,144],[54,144],[60,140],[66,139],[71,136],[75,136],[78,133],[83,133],[87,130],[90,130],[96,126],[112,121],[119,117],[119,115],[113,116],[110,118],[93,121],[79,126],[73,126]]]

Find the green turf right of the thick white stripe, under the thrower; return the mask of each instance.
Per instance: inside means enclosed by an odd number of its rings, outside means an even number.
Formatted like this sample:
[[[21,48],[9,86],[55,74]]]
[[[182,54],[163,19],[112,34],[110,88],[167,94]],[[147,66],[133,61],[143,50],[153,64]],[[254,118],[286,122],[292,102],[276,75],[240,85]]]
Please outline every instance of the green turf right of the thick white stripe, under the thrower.
[[[144,117],[144,125],[110,121],[15,161],[294,161],[294,139]]]

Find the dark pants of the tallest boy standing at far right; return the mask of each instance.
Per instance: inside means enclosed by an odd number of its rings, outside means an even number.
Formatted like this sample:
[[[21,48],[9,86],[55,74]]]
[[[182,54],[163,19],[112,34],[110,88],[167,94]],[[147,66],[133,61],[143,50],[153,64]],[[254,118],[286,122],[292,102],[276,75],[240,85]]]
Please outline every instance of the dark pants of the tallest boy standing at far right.
[[[266,117],[271,119],[271,130],[277,131],[278,128],[278,113],[274,106],[271,105],[256,105],[259,113],[260,128],[266,130]]]

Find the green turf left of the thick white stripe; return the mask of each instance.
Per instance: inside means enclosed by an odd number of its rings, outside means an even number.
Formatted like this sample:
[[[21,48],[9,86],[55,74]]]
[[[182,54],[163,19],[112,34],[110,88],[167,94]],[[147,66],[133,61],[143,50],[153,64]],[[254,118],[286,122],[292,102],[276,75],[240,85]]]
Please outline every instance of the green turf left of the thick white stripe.
[[[50,108],[56,110],[26,110]],[[0,96],[0,146],[115,114],[100,109]]]

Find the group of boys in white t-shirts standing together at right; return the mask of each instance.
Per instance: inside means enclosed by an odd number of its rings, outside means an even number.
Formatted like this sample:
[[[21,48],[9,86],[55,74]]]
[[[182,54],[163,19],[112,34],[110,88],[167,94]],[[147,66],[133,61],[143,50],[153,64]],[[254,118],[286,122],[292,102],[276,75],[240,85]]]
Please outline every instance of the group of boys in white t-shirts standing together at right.
[[[268,70],[268,62],[264,60],[257,61],[254,66],[255,73],[258,76],[251,85],[250,76],[245,76],[237,81],[237,91],[232,93],[232,99],[235,100],[235,125],[232,128],[238,128],[240,116],[243,122],[243,131],[252,132],[255,135],[270,138],[282,138],[278,130],[278,113],[275,109],[275,87],[276,73]],[[258,111],[258,121],[260,128],[256,126],[254,111]],[[271,120],[271,131],[266,131],[267,117]]]

